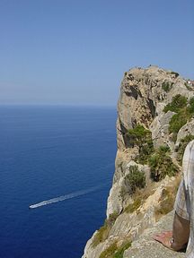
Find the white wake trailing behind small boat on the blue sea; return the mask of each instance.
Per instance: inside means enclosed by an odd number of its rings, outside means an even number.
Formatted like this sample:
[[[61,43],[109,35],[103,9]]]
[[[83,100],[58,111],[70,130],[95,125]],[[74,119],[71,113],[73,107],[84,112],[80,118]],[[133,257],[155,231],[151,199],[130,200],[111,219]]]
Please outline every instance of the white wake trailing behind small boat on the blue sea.
[[[92,192],[102,188],[104,185],[107,185],[107,184],[94,186],[94,187],[88,188],[86,190],[77,191],[75,193],[68,193],[66,195],[61,195],[61,196],[58,196],[56,198],[52,198],[52,199],[49,199],[49,200],[46,200],[46,201],[42,201],[42,202],[38,202],[38,203],[35,203],[35,204],[31,204],[29,206],[29,208],[30,209],[36,209],[36,208],[39,208],[41,206],[48,205],[48,204],[51,204],[51,203],[54,203],[54,202],[62,202],[62,201],[68,200],[68,199],[75,198],[77,196],[84,195],[86,193],[92,193]]]

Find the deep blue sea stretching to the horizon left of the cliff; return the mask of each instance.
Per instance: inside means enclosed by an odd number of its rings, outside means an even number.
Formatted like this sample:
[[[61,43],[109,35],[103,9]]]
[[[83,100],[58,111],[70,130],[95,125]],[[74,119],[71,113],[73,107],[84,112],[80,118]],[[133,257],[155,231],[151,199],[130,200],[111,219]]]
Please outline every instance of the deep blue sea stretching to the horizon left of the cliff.
[[[0,107],[0,257],[82,256],[105,219],[116,116],[113,107]]]

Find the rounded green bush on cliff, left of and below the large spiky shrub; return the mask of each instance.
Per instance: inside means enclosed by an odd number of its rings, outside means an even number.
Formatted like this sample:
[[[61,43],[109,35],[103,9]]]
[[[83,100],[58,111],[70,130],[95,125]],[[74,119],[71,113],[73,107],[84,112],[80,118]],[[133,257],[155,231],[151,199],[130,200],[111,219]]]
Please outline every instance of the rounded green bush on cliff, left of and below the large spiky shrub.
[[[145,187],[145,174],[138,170],[137,166],[129,168],[129,174],[125,176],[125,183],[130,187],[132,193],[135,193],[137,188]]]

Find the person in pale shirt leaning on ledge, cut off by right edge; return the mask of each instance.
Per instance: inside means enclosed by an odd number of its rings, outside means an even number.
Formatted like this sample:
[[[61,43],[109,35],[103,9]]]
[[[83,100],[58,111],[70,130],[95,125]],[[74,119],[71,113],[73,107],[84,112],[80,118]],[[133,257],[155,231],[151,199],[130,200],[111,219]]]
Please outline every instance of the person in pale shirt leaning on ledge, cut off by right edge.
[[[189,142],[182,159],[183,177],[174,203],[172,231],[154,236],[164,246],[194,258],[194,140]]]

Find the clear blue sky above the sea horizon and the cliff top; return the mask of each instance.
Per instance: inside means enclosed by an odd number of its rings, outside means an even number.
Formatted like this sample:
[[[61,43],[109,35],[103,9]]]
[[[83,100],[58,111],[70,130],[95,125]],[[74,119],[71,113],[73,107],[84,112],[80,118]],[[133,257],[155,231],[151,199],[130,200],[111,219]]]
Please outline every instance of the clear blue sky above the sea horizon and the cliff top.
[[[193,0],[0,0],[0,104],[116,106],[123,74],[194,79]]]

